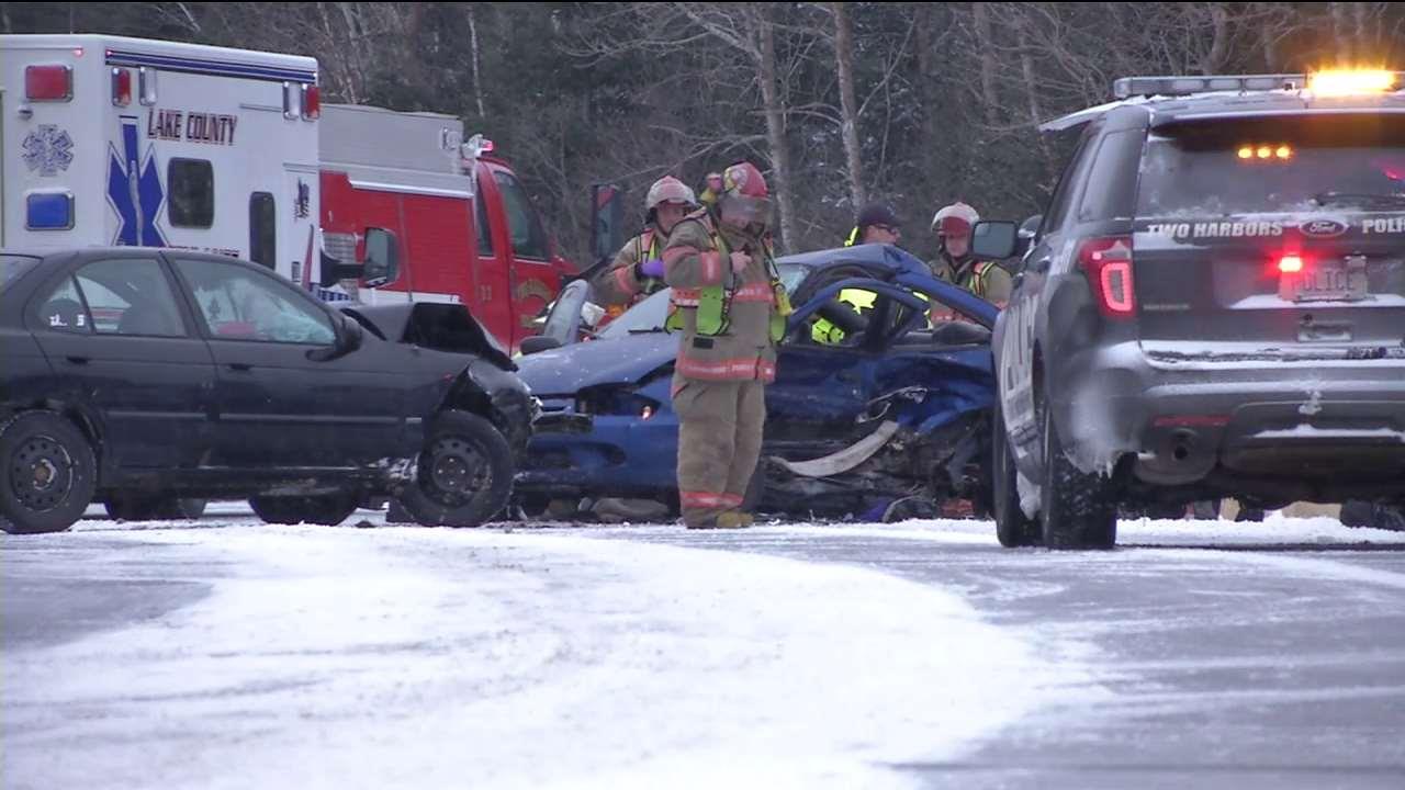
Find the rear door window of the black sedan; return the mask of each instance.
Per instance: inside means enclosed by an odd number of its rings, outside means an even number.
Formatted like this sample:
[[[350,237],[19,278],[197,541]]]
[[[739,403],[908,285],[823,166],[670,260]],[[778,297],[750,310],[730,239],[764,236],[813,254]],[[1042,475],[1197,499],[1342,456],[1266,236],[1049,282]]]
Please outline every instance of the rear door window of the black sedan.
[[[79,268],[74,280],[98,335],[185,336],[176,295],[156,260],[98,260]]]

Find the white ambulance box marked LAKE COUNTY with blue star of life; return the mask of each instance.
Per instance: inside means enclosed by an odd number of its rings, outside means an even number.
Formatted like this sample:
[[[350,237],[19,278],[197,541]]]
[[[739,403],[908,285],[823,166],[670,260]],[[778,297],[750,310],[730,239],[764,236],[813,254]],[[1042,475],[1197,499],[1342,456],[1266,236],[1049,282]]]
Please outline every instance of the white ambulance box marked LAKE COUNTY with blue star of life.
[[[0,246],[162,246],[316,287],[318,62],[0,35]]]

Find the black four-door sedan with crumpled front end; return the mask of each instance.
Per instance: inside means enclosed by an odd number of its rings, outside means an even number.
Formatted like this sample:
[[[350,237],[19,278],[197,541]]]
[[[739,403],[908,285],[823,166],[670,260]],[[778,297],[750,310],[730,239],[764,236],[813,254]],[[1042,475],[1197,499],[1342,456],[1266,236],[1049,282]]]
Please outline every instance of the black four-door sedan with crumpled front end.
[[[339,523],[392,496],[472,526],[511,491],[537,405],[461,305],[334,311],[229,257],[0,253],[0,529],[90,502],[250,498]]]

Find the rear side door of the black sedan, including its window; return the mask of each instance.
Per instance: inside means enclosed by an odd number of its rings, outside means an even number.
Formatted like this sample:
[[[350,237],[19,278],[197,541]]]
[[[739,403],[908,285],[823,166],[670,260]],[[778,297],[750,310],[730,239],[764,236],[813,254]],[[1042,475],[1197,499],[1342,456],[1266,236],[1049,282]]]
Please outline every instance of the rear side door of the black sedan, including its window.
[[[86,253],[30,304],[53,398],[100,422],[107,470],[201,462],[212,441],[215,367],[150,250]]]

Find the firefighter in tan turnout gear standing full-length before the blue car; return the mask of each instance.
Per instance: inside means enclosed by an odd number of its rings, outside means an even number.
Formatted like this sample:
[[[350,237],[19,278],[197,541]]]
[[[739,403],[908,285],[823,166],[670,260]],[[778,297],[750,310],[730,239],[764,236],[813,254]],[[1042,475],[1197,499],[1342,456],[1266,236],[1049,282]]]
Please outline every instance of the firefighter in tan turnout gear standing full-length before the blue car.
[[[790,298],[766,233],[771,201],[760,170],[724,173],[715,204],[688,215],[663,250],[673,287],[667,328],[680,330],[673,374],[679,499],[690,529],[752,524],[742,499],[762,453],[764,385]]]

